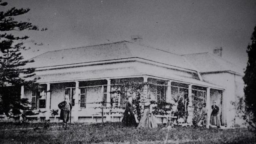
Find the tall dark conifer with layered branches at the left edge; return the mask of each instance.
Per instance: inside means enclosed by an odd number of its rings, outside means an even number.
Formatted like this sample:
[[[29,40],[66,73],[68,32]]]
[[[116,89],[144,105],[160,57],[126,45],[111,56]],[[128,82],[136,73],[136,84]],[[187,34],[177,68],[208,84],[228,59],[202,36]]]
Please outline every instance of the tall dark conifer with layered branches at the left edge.
[[[0,0],[0,7],[7,5],[7,2]],[[17,9],[15,7],[0,11],[0,113],[4,112],[9,116],[9,111],[13,114],[20,114],[20,110],[30,110],[28,99],[20,99],[20,87],[32,87],[37,78],[26,81],[25,78],[34,76],[34,68],[24,68],[27,63],[33,60],[24,60],[21,50],[27,50],[23,46],[27,35],[22,37],[13,35],[13,31],[39,30],[30,22],[18,22],[15,16],[24,15],[30,9]],[[45,30],[45,29],[44,29]]]

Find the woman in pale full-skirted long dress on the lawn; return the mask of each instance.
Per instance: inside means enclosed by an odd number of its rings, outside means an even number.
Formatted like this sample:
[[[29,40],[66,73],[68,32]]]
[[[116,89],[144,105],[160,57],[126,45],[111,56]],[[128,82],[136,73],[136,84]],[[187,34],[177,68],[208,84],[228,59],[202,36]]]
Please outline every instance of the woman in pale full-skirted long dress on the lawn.
[[[144,112],[143,116],[141,117],[141,120],[139,121],[139,127],[145,127],[145,128],[157,128],[157,119],[152,113],[153,111],[153,103],[154,101],[145,103],[144,105]]]

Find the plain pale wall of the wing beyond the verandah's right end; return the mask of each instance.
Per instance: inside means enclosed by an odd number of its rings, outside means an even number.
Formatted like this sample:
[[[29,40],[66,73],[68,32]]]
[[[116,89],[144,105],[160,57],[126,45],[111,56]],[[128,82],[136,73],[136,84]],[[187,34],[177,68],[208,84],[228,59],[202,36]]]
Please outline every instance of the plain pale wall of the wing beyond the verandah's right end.
[[[220,85],[225,88],[223,92],[223,118],[228,127],[233,126],[236,117],[236,109],[231,102],[237,100],[237,95],[243,96],[242,76],[223,72],[202,74],[202,78],[204,81]]]

